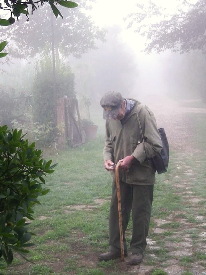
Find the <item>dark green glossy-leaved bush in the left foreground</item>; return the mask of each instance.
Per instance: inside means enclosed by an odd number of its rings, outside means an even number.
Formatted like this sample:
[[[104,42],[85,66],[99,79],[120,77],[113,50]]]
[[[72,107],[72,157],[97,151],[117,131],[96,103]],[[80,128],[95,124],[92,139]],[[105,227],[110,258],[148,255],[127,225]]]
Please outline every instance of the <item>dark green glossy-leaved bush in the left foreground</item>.
[[[27,229],[26,218],[34,220],[33,207],[40,204],[38,196],[45,195],[46,173],[53,173],[56,164],[45,161],[35,143],[28,143],[22,131],[0,127],[0,261],[10,264],[13,250],[24,257],[32,232]],[[0,268],[5,267],[0,264]]]

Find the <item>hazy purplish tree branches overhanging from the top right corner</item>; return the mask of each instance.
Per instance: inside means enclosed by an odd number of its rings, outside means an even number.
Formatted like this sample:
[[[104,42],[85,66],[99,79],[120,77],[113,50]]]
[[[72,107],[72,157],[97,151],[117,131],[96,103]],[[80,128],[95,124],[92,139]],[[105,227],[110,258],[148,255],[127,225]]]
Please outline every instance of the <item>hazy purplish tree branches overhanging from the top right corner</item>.
[[[146,37],[145,52],[155,50],[160,53],[172,49],[180,53],[200,50],[205,54],[206,1],[191,3],[182,0],[178,3],[175,10],[169,12],[151,0],[148,6],[137,3],[138,11],[126,17],[130,20],[128,27],[136,23],[135,32]]]

